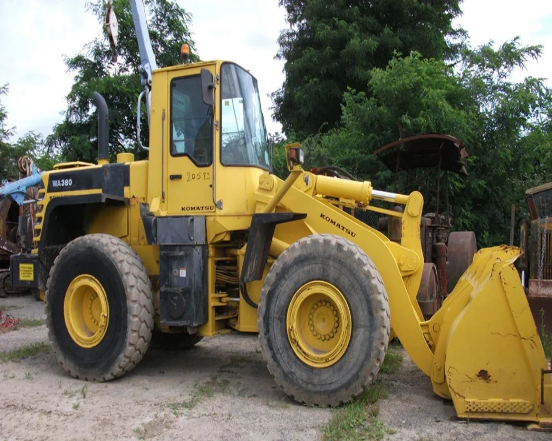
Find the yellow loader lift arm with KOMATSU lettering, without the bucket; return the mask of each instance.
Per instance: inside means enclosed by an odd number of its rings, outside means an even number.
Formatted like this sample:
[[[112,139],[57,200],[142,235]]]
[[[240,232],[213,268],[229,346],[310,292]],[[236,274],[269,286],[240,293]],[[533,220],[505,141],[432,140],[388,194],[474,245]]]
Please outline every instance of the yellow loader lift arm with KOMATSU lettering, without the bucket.
[[[273,185],[267,185],[267,179],[272,179]],[[282,244],[293,243],[300,237],[316,233],[335,234],[356,243],[374,262],[384,281],[389,297],[392,329],[401,339],[401,343],[412,360],[424,373],[429,375],[433,353],[422,332],[420,322],[423,320],[423,315],[416,302],[423,270],[420,242],[422,195],[414,192],[409,196],[399,198],[399,201],[406,202],[406,209],[402,216],[402,242],[401,245],[398,245],[321,197],[316,190],[318,179],[324,181],[325,195],[332,192],[331,183],[333,181],[336,183],[337,193],[346,193],[347,197],[356,200],[370,198],[371,185],[369,183],[302,173],[302,176],[296,179],[294,186],[282,197],[277,211],[306,212],[308,215],[304,221],[295,221],[276,227],[273,246],[270,248],[271,253],[277,252],[278,248],[285,249],[285,245]],[[259,185],[259,189],[255,193],[258,211],[264,210],[277,189],[284,184],[282,180],[272,175],[263,176],[262,180],[263,184]],[[271,188],[271,190],[265,190],[265,188]]]

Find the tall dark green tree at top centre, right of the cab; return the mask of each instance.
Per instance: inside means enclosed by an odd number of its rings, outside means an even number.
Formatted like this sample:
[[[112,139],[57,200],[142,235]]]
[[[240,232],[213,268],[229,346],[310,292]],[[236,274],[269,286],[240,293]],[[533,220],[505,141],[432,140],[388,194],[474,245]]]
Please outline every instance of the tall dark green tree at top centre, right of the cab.
[[[459,0],[280,0],[290,28],[278,40],[285,81],[272,94],[274,116],[300,137],[335,127],[347,88],[367,91],[370,70],[394,51],[438,60],[457,53],[448,41]]]

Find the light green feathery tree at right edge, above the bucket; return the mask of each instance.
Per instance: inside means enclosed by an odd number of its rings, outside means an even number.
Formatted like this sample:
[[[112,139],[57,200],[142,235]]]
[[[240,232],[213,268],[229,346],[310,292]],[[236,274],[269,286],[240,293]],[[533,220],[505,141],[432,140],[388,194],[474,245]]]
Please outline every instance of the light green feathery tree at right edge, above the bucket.
[[[552,90],[541,78],[510,79],[541,51],[514,39],[498,50],[466,51],[460,66],[480,114],[470,141],[471,173],[457,189],[458,217],[484,244],[506,243],[511,204],[526,207],[525,190],[552,178]]]

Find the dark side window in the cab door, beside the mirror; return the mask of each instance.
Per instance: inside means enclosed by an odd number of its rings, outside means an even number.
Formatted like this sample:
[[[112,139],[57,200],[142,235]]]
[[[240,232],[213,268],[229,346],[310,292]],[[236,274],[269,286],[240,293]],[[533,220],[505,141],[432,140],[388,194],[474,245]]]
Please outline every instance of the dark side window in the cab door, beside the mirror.
[[[189,156],[198,166],[213,161],[212,107],[201,98],[199,75],[171,81],[171,155]]]

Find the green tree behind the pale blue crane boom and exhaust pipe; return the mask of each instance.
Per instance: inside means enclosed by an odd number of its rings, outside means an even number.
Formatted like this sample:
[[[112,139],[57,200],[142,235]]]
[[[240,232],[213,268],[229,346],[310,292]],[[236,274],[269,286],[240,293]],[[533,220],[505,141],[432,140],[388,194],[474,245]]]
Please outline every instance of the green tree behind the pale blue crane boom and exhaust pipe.
[[[181,63],[180,47],[190,46],[190,59],[198,61],[190,36],[190,16],[176,2],[145,0],[153,52],[158,67]],[[88,8],[98,18],[98,29],[104,28],[107,2],[96,0]],[[97,158],[97,112],[92,102],[94,91],[105,98],[109,109],[109,151],[111,156],[131,151],[137,157],[146,156],[135,141],[137,97],[143,87],[140,82],[140,56],[129,2],[113,0],[119,22],[118,60],[111,61],[111,50],[105,29],[103,34],[87,44],[82,54],[66,59],[69,71],[75,72],[75,82],[67,95],[67,110],[62,123],[54,127],[47,146],[59,150],[67,161],[94,162]],[[144,108],[144,106],[142,106]],[[142,119],[141,139],[147,140],[146,119]],[[142,141],[147,144],[147,141]]]

